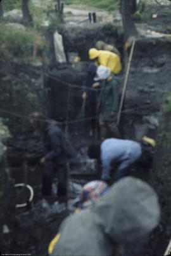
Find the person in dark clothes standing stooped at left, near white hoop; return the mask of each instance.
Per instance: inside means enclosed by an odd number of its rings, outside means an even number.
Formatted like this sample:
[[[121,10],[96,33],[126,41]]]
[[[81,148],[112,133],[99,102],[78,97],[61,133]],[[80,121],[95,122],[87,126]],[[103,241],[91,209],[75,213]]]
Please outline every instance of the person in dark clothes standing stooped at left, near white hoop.
[[[41,158],[43,166],[42,174],[42,195],[50,196],[52,190],[53,176],[57,173],[58,194],[66,196],[67,171],[66,162],[68,158],[75,156],[75,151],[56,121],[47,121],[39,112],[30,114],[30,123],[42,135],[44,140],[45,155]]]

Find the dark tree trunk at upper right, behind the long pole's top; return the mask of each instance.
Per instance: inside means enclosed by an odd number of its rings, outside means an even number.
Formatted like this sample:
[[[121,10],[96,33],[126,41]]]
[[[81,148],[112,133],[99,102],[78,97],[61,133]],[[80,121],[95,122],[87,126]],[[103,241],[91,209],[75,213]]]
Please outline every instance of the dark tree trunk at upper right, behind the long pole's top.
[[[122,14],[122,24],[124,27],[125,41],[129,37],[137,36],[137,29],[132,19],[132,14],[136,11],[136,0],[121,0],[120,12]]]

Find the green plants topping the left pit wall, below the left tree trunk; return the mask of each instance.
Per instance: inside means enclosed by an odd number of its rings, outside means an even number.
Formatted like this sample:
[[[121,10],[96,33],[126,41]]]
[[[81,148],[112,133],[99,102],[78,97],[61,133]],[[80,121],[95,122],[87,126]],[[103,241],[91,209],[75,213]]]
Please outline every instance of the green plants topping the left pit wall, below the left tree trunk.
[[[34,46],[37,47],[38,53],[45,48],[44,38],[34,30],[17,30],[1,25],[0,38],[0,58],[16,57],[28,60],[32,58]]]

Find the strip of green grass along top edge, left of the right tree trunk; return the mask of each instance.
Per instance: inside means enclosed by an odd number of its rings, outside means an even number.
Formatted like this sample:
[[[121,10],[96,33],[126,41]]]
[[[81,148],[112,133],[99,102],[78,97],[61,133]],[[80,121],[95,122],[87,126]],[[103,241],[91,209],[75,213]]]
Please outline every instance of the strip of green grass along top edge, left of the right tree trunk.
[[[65,4],[85,4],[87,6],[113,11],[118,8],[120,0],[63,0]]]

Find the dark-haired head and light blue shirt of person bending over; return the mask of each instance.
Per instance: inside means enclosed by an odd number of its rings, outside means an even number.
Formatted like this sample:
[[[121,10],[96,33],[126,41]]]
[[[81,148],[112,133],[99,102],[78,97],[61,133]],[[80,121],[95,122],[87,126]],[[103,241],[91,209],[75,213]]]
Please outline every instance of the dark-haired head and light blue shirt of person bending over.
[[[141,145],[133,140],[107,138],[94,143],[88,149],[89,158],[97,159],[102,165],[101,179],[110,182],[130,174],[130,165],[141,156]]]

